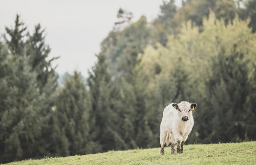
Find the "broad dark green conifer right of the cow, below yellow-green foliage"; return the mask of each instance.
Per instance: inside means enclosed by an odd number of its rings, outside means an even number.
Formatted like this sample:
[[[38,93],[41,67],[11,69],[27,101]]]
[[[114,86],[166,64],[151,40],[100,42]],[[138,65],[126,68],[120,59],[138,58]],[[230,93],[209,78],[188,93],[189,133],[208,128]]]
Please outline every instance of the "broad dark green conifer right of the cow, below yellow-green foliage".
[[[209,108],[204,111],[203,120],[209,123],[210,128],[202,134],[204,142],[247,139],[246,108],[251,93],[246,67],[248,61],[239,52],[225,54],[223,50],[214,60],[213,75],[207,83],[209,100],[206,104]]]

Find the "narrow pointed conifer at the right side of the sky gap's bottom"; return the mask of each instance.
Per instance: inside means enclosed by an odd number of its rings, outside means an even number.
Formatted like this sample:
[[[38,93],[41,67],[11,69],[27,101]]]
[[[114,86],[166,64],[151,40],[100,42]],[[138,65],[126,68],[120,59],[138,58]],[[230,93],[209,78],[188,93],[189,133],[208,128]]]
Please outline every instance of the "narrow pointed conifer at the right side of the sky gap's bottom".
[[[91,132],[95,152],[123,148],[124,141],[118,134],[120,123],[118,114],[113,110],[111,101],[111,76],[104,54],[97,55],[98,62],[89,72],[88,86],[92,98]]]

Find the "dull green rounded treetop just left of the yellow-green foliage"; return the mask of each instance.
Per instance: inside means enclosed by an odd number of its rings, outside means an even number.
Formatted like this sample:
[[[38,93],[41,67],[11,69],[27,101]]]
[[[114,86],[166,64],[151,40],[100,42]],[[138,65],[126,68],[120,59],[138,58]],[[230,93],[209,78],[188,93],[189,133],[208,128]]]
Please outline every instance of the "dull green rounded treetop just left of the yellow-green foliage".
[[[112,34],[110,33],[110,35]],[[137,63],[137,55],[143,52],[149,42],[149,28],[146,18],[142,16],[136,23],[126,27],[118,36],[116,44],[106,48],[108,49],[107,59],[111,63],[110,72],[117,78],[124,76],[126,81],[130,81],[133,68]],[[114,41],[116,39],[111,38]]]

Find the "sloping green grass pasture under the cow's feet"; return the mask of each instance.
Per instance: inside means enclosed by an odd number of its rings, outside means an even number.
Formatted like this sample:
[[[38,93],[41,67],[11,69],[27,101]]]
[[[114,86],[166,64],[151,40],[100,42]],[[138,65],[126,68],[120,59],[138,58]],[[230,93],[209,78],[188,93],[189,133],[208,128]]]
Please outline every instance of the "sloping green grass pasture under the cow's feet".
[[[184,145],[183,154],[171,154],[171,148],[165,148],[160,155],[159,148],[109,151],[107,153],[25,160],[8,165],[194,165],[194,164],[251,164],[256,165],[256,142],[194,144]]]

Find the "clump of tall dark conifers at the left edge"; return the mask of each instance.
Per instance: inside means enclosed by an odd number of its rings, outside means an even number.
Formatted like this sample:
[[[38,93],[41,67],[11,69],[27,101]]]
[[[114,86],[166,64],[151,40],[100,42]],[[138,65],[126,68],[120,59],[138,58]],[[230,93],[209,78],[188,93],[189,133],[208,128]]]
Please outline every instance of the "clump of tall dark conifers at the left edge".
[[[50,49],[46,49],[44,37],[40,38],[43,35],[40,26],[32,37],[18,15],[15,27],[5,29],[0,78],[1,161],[42,157],[48,154],[50,139],[42,137],[49,134],[49,110],[56,78],[54,70],[45,72],[39,66],[51,67],[52,60],[46,60]],[[35,37],[38,32],[40,35]]]

